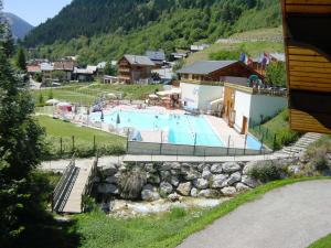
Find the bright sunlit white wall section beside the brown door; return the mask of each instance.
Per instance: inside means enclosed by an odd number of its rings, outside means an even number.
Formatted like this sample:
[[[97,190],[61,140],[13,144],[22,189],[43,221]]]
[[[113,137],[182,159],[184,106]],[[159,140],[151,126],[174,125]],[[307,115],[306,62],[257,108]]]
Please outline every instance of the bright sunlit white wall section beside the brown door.
[[[243,129],[243,118],[247,117],[248,121],[250,118],[250,99],[252,95],[247,93],[235,91],[235,129],[242,131]]]

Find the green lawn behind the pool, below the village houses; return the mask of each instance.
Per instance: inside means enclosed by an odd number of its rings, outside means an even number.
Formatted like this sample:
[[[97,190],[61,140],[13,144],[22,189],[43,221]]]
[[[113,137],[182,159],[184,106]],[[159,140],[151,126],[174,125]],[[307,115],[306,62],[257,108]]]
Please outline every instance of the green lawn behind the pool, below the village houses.
[[[73,104],[92,105],[95,100],[109,93],[121,95],[124,99],[140,100],[156,90],[162,89],[161,85],[104,85],[104,84],[75,84],[54,89],[33,90],[32,95],[40,104],[40,95],[43,101],[55,98]]]

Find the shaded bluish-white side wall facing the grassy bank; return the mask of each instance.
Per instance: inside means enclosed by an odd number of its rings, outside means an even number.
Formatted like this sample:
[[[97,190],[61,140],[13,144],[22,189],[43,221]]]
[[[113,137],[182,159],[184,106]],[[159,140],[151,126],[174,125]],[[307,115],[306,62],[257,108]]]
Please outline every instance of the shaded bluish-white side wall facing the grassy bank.
[[[263,115],[264,118],[273,117],[287,106],[286,97],[253,95],[250,104],[250,119],[254,122],[259,122],[260,115]]]

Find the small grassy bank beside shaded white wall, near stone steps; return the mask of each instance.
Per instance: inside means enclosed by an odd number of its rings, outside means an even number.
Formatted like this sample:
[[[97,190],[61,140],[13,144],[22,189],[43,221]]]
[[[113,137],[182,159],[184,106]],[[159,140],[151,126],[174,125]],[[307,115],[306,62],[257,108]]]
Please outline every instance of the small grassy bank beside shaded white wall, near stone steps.
[[[288,120],[289,116],[286,109],[261,126],[250,123],[249,131],[270,149],[278,150],[282,145],[295,142],[300,137],[300,133],[290,130]]]

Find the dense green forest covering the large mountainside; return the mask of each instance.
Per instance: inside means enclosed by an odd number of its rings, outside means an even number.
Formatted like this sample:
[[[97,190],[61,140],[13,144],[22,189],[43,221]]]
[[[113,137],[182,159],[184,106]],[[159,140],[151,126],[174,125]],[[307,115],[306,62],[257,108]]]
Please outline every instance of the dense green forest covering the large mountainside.
[[[79,63],[162,48],[169,55],[195,42],[280,24],[278,0],[74,0],[33,30],[35,55],[79,55]]]

